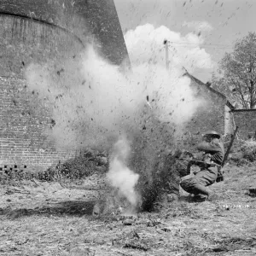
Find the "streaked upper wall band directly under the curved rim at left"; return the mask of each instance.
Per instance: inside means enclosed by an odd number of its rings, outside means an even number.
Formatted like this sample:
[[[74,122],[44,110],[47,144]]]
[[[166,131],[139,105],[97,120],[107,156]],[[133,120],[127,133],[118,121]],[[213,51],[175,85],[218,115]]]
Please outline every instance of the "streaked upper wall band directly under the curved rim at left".
[[[0,75],[8,77],[22,77],[31,62],[52,61],[61,70],[84,48],[58,27],[9,15],[0,15],[0,38]]]

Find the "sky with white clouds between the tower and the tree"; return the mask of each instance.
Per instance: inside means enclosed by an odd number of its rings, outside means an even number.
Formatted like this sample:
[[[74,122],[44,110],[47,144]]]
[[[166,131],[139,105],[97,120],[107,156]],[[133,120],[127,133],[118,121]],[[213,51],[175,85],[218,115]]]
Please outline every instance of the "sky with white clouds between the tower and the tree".
[[[152,49],[152,38],[154,53],[157,49],[164,50],[161,42],[167,38],[171,67],[179,62],[205,83],[217,71],[224,53],[232,51],[236,41],[248,32],[256,31],[255,0],[114,0],[114,3],[130,55],[143,55],[142,45],[147,40],[151,40]]]

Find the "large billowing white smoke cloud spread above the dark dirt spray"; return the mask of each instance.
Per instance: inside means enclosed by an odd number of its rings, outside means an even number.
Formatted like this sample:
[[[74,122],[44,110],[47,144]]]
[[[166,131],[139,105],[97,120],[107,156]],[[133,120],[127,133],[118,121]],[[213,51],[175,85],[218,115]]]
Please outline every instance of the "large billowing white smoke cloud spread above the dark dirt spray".
[[[55,126],[48,135],[57,147],[109,145],[127,125],[138,126],[137,110],[147,100],[158,119],[180,126],[201,105],[182,70],[168,72],[157,62],[122,73],[89,46],[79,60],[64,63],[62,70],[59,75],[48,64],[26,69],[31,90],[38,90],[52,108]]]

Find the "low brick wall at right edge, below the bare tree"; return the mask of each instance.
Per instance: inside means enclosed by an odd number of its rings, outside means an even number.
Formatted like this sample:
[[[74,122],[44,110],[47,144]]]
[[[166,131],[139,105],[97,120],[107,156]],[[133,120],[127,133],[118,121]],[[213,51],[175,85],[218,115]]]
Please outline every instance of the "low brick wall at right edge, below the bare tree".
[[[248,139],[256,132],[256,109],[236,109],[232,112],[232,125],[238,126],[238,137]]]

